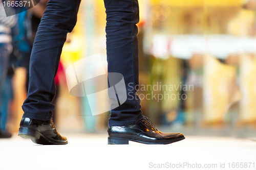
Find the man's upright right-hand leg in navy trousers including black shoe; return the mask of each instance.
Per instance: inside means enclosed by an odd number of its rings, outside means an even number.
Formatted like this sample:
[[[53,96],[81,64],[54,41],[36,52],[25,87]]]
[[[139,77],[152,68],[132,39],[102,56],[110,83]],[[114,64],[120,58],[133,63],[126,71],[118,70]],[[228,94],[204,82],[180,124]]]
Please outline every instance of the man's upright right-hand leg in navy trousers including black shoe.
[[[162,133],[142,115],[138,85],[137,0],[104,0],[106,8],[106,53],[108,72],[123,75],[127,100],[111,110],[108,144],[168,144],[185,139],[181,133]]]

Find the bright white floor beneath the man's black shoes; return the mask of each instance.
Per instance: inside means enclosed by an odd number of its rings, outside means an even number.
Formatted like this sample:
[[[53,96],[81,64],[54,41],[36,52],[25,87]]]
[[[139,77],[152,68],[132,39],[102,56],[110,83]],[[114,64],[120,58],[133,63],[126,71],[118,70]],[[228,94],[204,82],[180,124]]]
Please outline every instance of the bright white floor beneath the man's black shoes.
[[[106,134],[63,135],[69,144],[37,145],[16,134],[0,139],[0,169],[256,169],[252,139],[186,136],[167,145],[108,145]]]

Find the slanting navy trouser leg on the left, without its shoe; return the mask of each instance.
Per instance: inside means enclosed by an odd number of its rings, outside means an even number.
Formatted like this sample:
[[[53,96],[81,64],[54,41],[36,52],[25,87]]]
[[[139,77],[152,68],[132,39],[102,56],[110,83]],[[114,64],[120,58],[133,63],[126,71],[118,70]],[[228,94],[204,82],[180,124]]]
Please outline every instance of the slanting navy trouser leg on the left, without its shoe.
[[[23,117],[37,120],[52,118],[56,75],[67,33],[76,24],[80,0],[50,0],[41,19],[33,45],[28,97]]]

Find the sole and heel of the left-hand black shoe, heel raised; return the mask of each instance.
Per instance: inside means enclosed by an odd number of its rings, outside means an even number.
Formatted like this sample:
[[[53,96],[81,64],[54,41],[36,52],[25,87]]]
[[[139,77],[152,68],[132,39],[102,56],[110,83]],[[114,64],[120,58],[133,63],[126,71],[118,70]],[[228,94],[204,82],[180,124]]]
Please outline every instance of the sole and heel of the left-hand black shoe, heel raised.
[[[39,131],[31,129],[31,128],[19,128],[18,129],[18,136],[23,137],[25,139],[31,139],[36,144],[44,144],[44,145],[50,145],[50,144],[68,144],[67,142],[56,142],[48,139],[46,136],[41,134]]]

